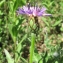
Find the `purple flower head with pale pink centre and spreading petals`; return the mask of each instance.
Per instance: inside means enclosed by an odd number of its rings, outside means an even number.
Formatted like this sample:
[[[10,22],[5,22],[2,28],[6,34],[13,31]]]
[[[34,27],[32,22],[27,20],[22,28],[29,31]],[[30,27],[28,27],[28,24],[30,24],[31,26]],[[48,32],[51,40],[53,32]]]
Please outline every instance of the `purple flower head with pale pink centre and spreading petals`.
[[[46,8],[42,7],[40,9],[39,7],[30,7],[30,6],[23,6],[22,8],[19,8],[17,13],[18,14],[26,14],[28,16],[50,16],[51,14],[46,13]]]

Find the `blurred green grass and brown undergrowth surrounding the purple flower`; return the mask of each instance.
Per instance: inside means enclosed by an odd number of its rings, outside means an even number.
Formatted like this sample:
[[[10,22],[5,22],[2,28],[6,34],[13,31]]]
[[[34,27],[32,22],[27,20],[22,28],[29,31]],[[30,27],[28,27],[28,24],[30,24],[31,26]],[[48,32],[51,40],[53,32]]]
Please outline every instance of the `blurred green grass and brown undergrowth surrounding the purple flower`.
[[[39,30],[16,13],[28,2],[52,14],[38,17]],[[0,0],[0,63],[63,63],[63,0]]]

